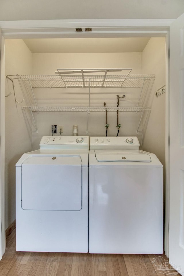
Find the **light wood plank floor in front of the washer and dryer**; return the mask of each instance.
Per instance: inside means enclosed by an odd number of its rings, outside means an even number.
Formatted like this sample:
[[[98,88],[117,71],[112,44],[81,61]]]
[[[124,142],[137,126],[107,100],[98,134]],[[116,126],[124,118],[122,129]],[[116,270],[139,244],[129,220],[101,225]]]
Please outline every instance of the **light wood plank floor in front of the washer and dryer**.
[[[0,261],[0,276],[163,276],[159,255],[16,252],[15,230]],[[161,255],[167,260],[165,255]],[[159,263],[159,264],[162,264]],[[179,275],[179,274],[178,274]]]

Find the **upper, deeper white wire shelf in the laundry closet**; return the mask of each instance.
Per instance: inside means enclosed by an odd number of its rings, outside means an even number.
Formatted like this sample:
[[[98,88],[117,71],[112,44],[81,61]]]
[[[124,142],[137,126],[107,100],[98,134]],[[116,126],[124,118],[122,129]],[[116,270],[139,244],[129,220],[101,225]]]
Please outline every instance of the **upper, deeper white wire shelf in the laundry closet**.
[[[21,75],[32,88],[143,87],[155,75]]]

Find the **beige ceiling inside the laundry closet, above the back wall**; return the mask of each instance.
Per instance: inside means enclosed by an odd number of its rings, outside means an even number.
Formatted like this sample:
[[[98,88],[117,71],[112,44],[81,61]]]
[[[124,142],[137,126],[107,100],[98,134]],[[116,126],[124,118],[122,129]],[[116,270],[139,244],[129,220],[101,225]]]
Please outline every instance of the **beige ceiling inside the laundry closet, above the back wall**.
[[[142,52],[150,37],[24,39],[32,53]]]

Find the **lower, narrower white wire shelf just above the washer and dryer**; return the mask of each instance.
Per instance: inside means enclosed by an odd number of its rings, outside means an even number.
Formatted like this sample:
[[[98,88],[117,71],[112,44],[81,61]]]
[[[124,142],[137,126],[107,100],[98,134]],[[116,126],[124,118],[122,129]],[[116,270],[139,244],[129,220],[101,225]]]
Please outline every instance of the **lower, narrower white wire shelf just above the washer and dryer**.
[[[60,106],[22,106],[22,110],[31,111],[69,111],[69,112],[83,112],[83,111],[143,111],[151,110],[151,107],[60,107]]]

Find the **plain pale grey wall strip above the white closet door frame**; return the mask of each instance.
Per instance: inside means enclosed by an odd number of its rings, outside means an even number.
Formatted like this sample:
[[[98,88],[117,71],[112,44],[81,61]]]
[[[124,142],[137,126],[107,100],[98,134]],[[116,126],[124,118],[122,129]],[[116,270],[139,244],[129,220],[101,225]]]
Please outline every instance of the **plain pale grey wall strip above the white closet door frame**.
[[[183,0],[0,0],[1,21],[102,18],[173,19],[183,12]]]

